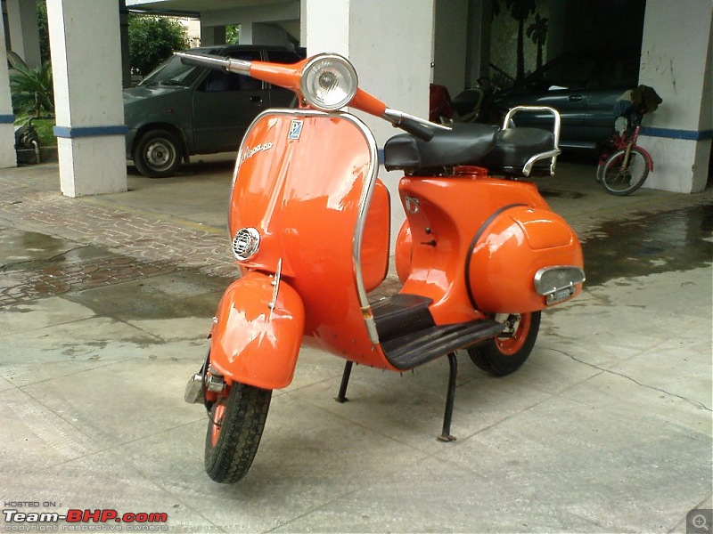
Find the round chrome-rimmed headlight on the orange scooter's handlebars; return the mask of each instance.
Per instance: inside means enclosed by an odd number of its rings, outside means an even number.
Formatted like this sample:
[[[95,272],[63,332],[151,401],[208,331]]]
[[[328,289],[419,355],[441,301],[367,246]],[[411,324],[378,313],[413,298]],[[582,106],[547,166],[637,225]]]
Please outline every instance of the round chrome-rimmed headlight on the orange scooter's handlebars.
[[[351,63],[340,55],[323,53],[302,69],[299,88],[313,108],[334,111],[346,106],[356,94],[359,81]]]

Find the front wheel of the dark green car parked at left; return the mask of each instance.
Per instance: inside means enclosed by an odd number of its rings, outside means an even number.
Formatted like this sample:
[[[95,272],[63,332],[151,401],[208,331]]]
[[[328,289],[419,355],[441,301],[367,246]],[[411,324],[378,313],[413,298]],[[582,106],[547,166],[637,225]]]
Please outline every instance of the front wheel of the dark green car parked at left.
[[[149,130],[136,143],[134,164],[144,176],[165,178],[176,172],[182,157],[183,147],[175,134]]]

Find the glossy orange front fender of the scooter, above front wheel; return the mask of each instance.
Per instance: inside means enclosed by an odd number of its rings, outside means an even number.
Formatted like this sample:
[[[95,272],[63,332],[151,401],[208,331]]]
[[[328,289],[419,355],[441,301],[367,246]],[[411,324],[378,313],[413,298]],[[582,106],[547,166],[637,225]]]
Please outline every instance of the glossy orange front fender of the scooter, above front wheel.
[[[210,331],[210,368],[225,382],[279,389],[292,381],[305,324],[297,291],[258,271],[223,294]]]

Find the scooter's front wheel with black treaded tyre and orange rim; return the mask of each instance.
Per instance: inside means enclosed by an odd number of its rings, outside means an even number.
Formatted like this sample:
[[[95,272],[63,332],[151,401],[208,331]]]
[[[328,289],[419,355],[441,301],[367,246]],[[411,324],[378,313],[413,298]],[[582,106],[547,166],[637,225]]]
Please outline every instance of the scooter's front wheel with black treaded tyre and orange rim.
[[[233,483],[250,470],[270,409],[272,390],[234,382],[210,409],[205,467],[217,482]]]

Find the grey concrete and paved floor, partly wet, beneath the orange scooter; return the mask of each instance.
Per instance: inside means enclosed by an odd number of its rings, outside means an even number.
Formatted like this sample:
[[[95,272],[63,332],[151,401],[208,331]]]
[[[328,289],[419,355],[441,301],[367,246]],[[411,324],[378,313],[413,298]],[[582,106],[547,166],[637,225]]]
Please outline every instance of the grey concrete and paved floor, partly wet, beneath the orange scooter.
[[[3,510],[168,516],[58,530],[685,532],[713,508],[710,190],[614,198],[593,166],[559,170],[539,185],[598,274],[544,314],[514,375],[460,356],[457,441],[435,439],[445,360],[355,368],[339,404],[342,361],[303,349],[236,485],[204,473],[204,409],[183,401],[234,270],[230,164],[79,199],[57,192],[56,165],[0,171]],[[653,231],[688,210],[701,220]],[[668,257],[676,236],[695,259]],[[55,524],[9,517],[2,530]]]

